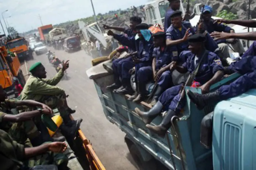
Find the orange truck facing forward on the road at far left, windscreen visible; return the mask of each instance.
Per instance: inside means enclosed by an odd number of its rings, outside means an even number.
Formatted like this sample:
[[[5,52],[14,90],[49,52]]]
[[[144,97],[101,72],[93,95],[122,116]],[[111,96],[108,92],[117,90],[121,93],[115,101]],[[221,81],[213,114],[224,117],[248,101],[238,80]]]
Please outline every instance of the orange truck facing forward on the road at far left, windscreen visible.
[[[5,46],[11,52],[15,52],[20,61],[33,58],[33,54],[29,48],[29,42],[23,37],[7,41]]]

